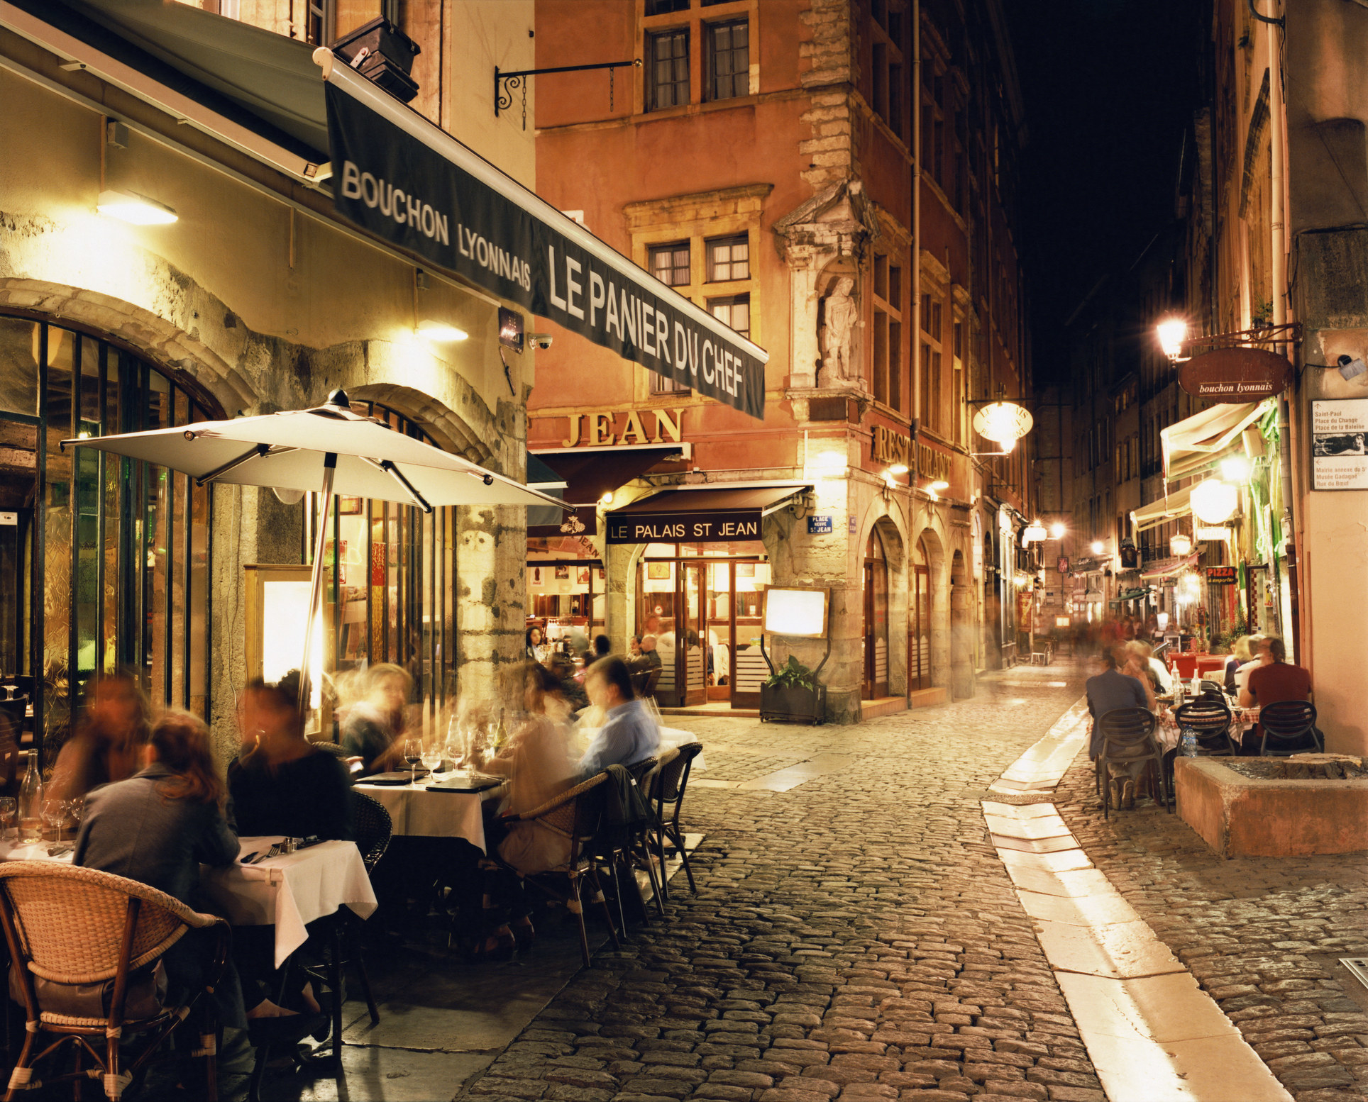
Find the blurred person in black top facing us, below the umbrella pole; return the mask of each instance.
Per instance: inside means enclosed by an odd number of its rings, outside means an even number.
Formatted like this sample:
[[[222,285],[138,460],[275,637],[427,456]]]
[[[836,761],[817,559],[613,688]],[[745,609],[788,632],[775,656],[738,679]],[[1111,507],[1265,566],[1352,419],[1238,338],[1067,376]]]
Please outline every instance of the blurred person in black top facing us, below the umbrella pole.
[[[242,752],[228,792],[244,835],[350,838],[346,767],[304,737],[298,671],[279,685],[254,681],[242,699]]]

